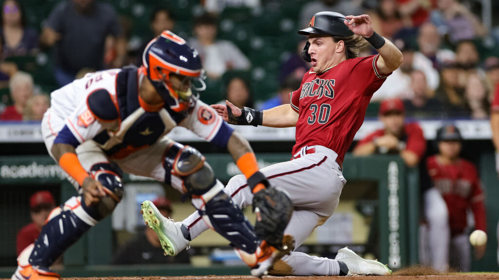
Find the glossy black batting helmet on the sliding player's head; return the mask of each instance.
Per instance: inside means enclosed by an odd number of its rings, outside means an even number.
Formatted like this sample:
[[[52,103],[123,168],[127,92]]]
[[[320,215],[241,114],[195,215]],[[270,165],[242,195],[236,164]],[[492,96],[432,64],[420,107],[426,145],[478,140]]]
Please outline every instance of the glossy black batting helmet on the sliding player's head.
[[[321,34],[340,37],[352,36],[353,32],[345,25],[345,20],[347,20],[345,15],[339,12],[321,11],[314,14],[308,23],[308,27],[299,30],[298,34]],[[307,41],[305,47],[301,51],[301,57],[305,61],[310,62],[311,59],[310,54],[308,54],[308,47],[310,47],[310,43]]]

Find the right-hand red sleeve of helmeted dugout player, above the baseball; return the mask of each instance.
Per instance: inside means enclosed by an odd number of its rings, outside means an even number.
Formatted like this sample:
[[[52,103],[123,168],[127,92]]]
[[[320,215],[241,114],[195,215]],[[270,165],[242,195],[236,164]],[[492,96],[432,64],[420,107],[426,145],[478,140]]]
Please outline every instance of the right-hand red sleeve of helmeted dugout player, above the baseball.
[[[470,195],[470,204],[475,218],[475,229],[487,232],[487,217],[484,204],[485,194],[482,190],[475,165],[470,163],[469,169],[473,171],[474,178]]]

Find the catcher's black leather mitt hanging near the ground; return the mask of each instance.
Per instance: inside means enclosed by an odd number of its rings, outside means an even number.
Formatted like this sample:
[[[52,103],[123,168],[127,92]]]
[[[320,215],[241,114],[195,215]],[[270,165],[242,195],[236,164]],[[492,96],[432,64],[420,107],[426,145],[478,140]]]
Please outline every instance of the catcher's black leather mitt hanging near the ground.
[[[293,212],[289,197],[279,188],[267,187],[254,194],[253,211],[256,215],[256,236],[281,250],[284,229]]]

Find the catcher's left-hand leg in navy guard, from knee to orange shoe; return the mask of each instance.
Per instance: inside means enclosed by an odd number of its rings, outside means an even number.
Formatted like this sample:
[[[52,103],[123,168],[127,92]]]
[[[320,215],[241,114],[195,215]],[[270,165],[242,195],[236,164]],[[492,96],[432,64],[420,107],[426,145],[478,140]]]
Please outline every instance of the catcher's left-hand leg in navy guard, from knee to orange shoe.
[[[52,210],[34,246],[20,254],[19,267],[13,277],[23,280],[22,276],[31,272],[39,276],[49,275],[48,267],[90,227],[109,215],[121,200],[123,185],[109,163],[95,164],[90,171],[92,177],[104,186],[106,196],[92,206],[86,205],[82,195],[73,196]]]

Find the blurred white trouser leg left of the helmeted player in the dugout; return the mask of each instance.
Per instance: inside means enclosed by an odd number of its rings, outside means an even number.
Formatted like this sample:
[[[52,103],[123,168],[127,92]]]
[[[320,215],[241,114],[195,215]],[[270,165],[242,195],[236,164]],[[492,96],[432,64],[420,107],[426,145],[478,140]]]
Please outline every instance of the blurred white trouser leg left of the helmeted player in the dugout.
[[[447,204],[440,192],[431,188],[424,194],[425,216],[428,220],[428,241],[432,267],[438,271],[449,269],[451,233]]]

